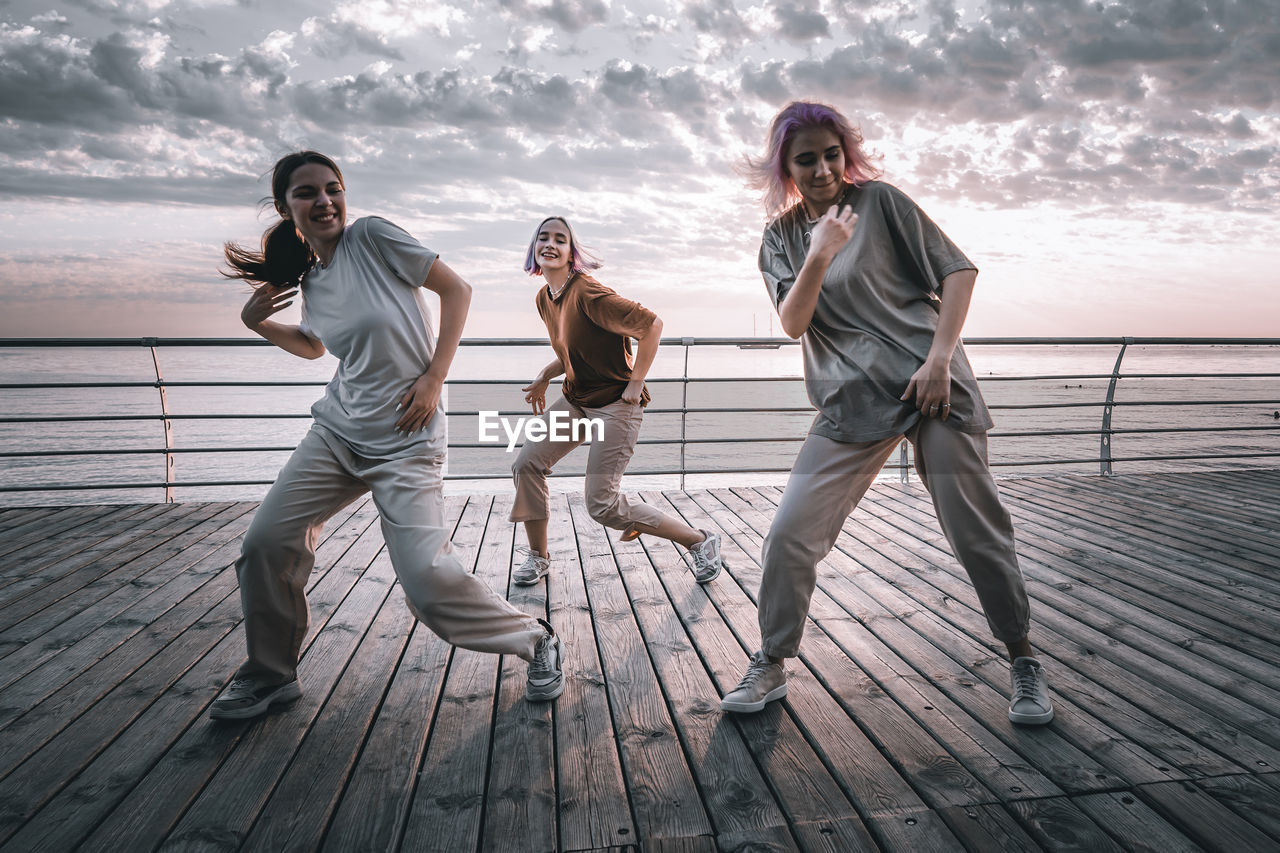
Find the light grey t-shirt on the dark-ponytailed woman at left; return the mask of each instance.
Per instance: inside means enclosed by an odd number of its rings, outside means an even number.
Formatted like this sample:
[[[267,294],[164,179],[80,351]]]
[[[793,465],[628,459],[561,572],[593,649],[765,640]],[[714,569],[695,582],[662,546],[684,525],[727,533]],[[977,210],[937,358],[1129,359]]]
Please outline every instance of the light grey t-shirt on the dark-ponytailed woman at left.
[[[300,328],[338,359],[311,416],[361,456],[444,452],[443,397],[426,429],[396,432],[397,403],[435,353],[422,293],[435,257],[402,228],[365,216],[343,232],[329,265],[302,279]]]

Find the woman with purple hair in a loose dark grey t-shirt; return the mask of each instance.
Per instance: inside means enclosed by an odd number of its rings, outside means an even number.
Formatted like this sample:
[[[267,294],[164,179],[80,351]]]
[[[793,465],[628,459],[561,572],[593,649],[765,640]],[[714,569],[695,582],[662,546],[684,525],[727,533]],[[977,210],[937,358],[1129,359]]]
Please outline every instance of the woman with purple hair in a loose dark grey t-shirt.
[[[956,558],[1012,661],[1012,722],[1053,719],[1030,643],[1009,512],[987,465],[991,416],[960,345],[977,266],[900,190],[876,181],[837,110],[794,102],[753,163],[768,214],[759,265],[783,330],[803,338],[818,416],[764,540],[760,651],[726,711],[786,694],[817,564],[905,437]]]

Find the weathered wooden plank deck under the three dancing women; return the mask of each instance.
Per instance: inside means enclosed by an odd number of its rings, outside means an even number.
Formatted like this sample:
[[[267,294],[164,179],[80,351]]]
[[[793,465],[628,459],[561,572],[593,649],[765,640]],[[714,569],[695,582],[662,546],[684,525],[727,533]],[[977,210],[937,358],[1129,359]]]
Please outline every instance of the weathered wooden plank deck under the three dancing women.
[[[407,613],[374,507],[326,528],[292,708],[214,724],[252,503],[0,511],[0,845],[13,850],[1280,848],[1280,471],[1001,480],[1057,719],[1007,665],[918,484],[822,566],[790,695],[719,711],[758,642],[778,491],[644,494],[726,534],[704,588],[558,498],[508,587],[508,496],[448,501],[484,579],[567,644],[525,665]]]

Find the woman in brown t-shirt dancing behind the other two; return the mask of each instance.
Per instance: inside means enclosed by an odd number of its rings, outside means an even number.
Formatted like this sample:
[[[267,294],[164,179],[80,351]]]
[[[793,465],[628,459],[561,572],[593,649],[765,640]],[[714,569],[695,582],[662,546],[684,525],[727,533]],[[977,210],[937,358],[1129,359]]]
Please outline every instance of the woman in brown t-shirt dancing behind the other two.
[[[553,438],[553,415],[598,420],[604,434],[591,442],[586,459],[586,510],[607,528],[622,530],[622,539],[652,534],[689,548],[694,579],[714,580],[722,567],[719,534],[696,530],[648,503],[628,501],[620,491],[622,473],[635,452],[649,373],[662,338],[662,320],[639,302],[623,298],[588,274],[600,263],[584,252],[562,216],[548,216],[534,229],[525,252],[525,272],[541,275],[534,302],[547,324],[556,360],[543,368],[532,384],[522,388],[535,415],[545,414],[545,441],[526,441],[511,466],[516,480],[512,521],[525,523],[529,548],[512,580],[529,585],[550,571],[547,546],[547,476],[552,466],[582,443],[588,430],[567,430]],[[636,352],[631,352],[636,338]],[[547,387],[564,374],[563,396],[547,406]]]

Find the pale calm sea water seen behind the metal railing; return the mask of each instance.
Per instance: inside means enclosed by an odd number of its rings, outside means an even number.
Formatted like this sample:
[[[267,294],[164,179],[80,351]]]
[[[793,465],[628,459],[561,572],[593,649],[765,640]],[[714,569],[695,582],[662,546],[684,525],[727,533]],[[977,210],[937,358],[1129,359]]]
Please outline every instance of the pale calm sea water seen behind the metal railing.
[[[1103,401],[1119,353],[1112,345],[966,345],[996,426],[989,447],[997,476],[1097,474]],[[323,393],[334,361],[296,359],[274,347],[157,350],[165,402],[173,416],[175,500],[259,500],[310,426],[308,409]],[[550,347],[465,346],[447,388],[449,442],[447,492],[509,489],[513,453],[479,442],[474,412],[527,415],[521,388],[552,360]],[[650,370],[653,402],[623,488],[781,484],[813,420],[800,350],[663,346]],[[1117,474],[1276,466],[1280,464],[1280,374],[1274,346],[1130,346],[1115,389],[1110,425]],[[1133,378],[1133,374],[1211,374]],[[689,377],[686,382],[684,377]],[[1055,377],[1032,378],[1027,377]],[[93,455],[0,459],[5,485],[155,484],[165,479],[165,434],[156,368],[146,347],[4,347],[0,384],[137,383],[114,388],[0,389],[0,418],[77,418],[0,424],[0,452],[99,451]],[[291,382],[296,386],[252,387]],[[182,383],[195,383],[186,386]],[[558,383],[548,391],[554,400]],[[1196,405],[1188,405],[1196,403]],[[1044,406],[1044,407],[1028,407]],[[681,414],[681,409],[692,410]],[[727,410],[727,411],[726,411]],[[741,411],[751,410],[751,411]],[[472,414],[467,414],[472,412]],[[110,420],[120,416],[147,420]],[[207,418],[212,415],[212,418]],[[198,418],[193,418],[198,416]],[[1247,432],[1211,432],[1251,426]],[[1079,433],[1047,435],[1047,432]],[[1089,434],[1089,433],[1093,434]],[[678,441],[685,438],[684,450]],[[192,452],[237,448],[234,452]],[[102,455],[105,450],[145,450]],[[1274,453],[1220,460],[1135,460],[1148,456]],[[581,488],[586,452],[570,453],[556,473],[557,491]],[[891,464],[896,464],[895,455]],[[1052,461],[1052,464],[1046,464]],[[705,473],[704,473],[705,471]],[[899,476],[896,469],[886,469]],[[183,485],[247,480],[237,485]],[[0,492],[0,505],[145,502],[164,500],[157,487]]]

